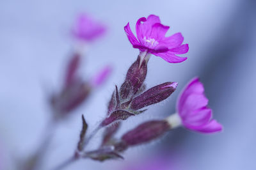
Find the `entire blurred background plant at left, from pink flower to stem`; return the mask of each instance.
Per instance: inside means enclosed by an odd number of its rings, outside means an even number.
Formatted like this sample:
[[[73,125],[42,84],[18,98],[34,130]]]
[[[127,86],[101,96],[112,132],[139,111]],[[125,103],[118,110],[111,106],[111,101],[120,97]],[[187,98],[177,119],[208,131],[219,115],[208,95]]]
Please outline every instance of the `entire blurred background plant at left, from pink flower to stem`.
[[[54,132],[60,121],[67,119],[77,107],[86,101],[93,90],[99,88],[108,79],[112,71],[111,66],[105,66],[89,80],[84,80],[78,74],[78,70],[81,67],[81,59],[84,56],[84,49],[86,49],[90,42],[104,35],[105,32],[106,27],[100,22],[93,20],[89,15],[82,13],[77,17],[71,31],[72,36],[76,40],[75,50],[65,69],[63,86],[60,88],[60,91],[52,93],[49,98],[49,105],[52,111],[51,119],[41,135],[42,139],[35,153],[21,163],[22,169],[41,169],[49,144],[51,144],[52,137],[54,137]],[[75,159],[71,158],[64,162],[64,165],[69,164]]]

